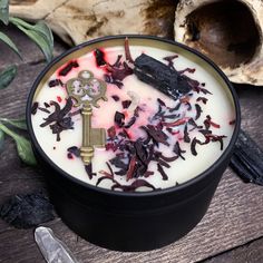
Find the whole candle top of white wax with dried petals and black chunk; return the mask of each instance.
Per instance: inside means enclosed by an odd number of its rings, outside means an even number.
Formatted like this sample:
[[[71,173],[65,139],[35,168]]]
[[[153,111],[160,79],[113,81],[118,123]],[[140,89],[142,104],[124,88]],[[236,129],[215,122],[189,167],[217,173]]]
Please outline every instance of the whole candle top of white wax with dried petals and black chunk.
[[[105,99],[94,107],[104,84]],[[31,108],[33,133],[51,162],[87,184],[125,192],[173,187],[206,171],[227,147],[234,118],[227,90],[196,61],[127,40],[58,68]],[[84,136],[94,150],[86,163]]]

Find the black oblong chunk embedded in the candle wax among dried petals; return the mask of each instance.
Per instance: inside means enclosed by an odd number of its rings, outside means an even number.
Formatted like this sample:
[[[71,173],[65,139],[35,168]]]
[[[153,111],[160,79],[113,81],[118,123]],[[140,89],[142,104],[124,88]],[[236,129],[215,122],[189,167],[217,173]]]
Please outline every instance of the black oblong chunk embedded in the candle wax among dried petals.
[[[177,99],[179,94],[187,94],[191,90],[187,77],[145,53],[137,57],[134,64],[134,74],[139,80],[174,99]]]

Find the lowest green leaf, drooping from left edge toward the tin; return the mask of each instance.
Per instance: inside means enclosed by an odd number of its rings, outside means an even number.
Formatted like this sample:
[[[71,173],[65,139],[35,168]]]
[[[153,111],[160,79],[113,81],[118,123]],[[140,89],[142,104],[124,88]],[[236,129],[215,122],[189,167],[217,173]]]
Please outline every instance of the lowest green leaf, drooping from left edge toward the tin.
[[[28,165],[36,165],[37,160],[35,158],[33,152],[32,152],[32,146],[31,143],[26,139],[25,137],[18,135],[13,130],[9,129],[6,125],[0,123],[0,129],[12,137],[17,144],[17,150],[20,159]]]

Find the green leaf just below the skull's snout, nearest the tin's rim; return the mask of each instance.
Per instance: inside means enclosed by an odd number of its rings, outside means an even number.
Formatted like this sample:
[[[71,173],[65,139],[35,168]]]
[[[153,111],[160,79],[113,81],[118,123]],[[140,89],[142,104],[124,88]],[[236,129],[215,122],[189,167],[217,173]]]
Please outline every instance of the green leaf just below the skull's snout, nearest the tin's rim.
[[[47,61],[52,59],[53,37],[51,30],[43,21],[39,21],[36,25],[30,25],[19,18],[10,18],[9,21],[37,43]]]

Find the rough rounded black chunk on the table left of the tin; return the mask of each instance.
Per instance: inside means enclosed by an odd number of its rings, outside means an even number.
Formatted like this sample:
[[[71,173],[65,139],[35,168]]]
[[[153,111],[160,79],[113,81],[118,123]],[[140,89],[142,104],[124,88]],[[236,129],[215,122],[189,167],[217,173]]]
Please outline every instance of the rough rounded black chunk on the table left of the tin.
[[[30,228],[55,218],[53,206],[41,192],[14,195],[0,206],[0,217],[17,228]]]

